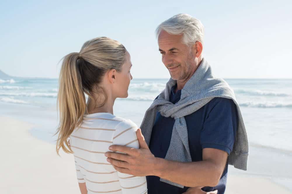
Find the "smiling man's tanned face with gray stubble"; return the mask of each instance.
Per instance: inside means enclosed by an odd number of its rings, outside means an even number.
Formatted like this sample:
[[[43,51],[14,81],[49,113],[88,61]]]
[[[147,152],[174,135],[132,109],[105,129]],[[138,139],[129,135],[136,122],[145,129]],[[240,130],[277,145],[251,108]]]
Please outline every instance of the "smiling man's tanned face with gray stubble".
[[[196,64],[194,47],[183,44],[182,38],[183,35],[168,34],[162,30],[158,36],[158,46],[171,78],[184,81],[194,73]]]

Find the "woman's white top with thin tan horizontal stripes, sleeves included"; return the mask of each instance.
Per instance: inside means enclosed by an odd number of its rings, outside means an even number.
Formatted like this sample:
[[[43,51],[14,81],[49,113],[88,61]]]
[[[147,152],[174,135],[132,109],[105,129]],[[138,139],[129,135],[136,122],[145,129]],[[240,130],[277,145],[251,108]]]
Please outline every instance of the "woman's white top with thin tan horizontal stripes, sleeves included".
[[[110,113],[84,116],[80,128],[70,135],[70,145],[74,152],[78,182],[86,183],[88,194],[147,193],[145,176],[117,172],[105,156],[111,145],[139,148],[137,129],[131,120]]]

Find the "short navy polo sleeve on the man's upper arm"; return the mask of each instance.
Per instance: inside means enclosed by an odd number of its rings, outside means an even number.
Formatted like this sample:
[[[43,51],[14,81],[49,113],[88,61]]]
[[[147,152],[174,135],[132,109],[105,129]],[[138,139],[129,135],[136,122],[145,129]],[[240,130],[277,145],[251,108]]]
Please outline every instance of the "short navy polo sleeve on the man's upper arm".
[[[200,135],[202,149],[215,148],[231,153],[238,125],[237,109],[232,99],[214,98],[209,102]]]

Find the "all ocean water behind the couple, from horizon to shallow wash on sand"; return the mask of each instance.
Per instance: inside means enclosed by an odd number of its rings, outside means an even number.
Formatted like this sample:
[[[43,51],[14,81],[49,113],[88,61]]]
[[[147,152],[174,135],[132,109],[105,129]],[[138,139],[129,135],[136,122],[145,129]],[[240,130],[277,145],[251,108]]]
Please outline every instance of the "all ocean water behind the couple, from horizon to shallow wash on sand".
[[[225,80],[236,94],[250,144],[292,151],[292,79]],[[133,79],[128,98],[116,100],[114,114],[139,125],[167,81]],[[53,134],[58,124],[57,93],[58,79],[0,79],[0,113],[39,124],[32,134],[53,142],[55,138],[48,134]]]

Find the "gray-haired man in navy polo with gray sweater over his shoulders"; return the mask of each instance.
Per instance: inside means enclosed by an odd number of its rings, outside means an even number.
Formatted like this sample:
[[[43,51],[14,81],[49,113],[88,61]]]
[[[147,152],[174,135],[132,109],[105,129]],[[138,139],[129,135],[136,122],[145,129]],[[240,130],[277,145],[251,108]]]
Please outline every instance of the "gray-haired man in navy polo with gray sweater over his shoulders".
[[[137,131],[140,149],[110,146],[127,155],[108,152],[108,161],[119,172],[147,176],[149,194],[222,194],[228,162],[247,168],[248,141],[234,92],[201,55],[199,20],[178,14],[156,32],[171,79]]]

